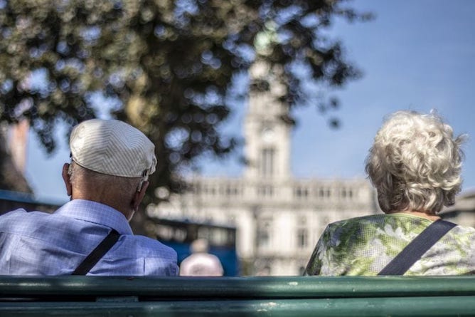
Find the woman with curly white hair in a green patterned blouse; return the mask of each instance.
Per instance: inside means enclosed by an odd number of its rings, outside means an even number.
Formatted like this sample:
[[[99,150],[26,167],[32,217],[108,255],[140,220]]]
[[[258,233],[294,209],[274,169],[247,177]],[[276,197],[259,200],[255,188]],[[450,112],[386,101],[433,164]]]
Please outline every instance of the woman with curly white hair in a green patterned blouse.
[[[399,264],[405,264],[404,256],[400,259],[398,254],[409,250],[410,242],[439,219],[442,207],[454,204],[461,189],[463,140],[454,137],[452,128],[435,113],[399,111],[390,115],[375,136],[365,167],[384,214],[329,224],[304,274],[385,275],[382,270],[396,257]],[[473,273],[475,229],[452,226],[399,274]],[[429,230],[425,235],[426,239],[434,236]],[[415,254],[407,250],[405,253]]]

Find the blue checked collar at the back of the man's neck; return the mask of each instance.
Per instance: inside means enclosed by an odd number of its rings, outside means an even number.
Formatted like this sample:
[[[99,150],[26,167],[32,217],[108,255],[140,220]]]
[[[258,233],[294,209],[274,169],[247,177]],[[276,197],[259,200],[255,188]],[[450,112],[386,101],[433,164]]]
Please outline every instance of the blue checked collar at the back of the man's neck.
[[[119,234],[133,234],[127,218],[118,210],[85,199],[73,199],[63,204],[55,214],[65,217],[84,220],[95,224],[102,224],[116,229]]]

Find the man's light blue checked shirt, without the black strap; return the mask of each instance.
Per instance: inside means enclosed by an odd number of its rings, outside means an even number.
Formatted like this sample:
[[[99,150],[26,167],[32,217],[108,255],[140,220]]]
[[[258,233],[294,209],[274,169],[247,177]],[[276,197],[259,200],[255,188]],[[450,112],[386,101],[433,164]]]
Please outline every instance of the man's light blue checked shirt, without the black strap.
[[[16,209],[0,216],[0,274],[69,275],[112,228],[119,241],[87,275],[178,275],[174,249],[134,235],[116,209],[82,199],[53,214]]]

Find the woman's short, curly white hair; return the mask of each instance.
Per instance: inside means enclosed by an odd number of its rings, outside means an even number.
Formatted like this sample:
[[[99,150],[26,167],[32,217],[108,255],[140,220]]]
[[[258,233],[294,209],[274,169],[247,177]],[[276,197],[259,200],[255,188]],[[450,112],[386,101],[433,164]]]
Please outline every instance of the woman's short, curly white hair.
[[[398,111],[385,120],[366,157],[365,170],[383,212],[436,214],[461,190],[461,144],[435,112]]]

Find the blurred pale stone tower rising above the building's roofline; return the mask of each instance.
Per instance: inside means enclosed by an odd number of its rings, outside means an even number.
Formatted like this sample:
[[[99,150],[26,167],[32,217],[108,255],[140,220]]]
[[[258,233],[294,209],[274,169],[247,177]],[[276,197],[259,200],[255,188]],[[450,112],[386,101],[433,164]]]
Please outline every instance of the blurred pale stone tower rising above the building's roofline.
[[[287,180],[290,177],[289,107],[282,103],[282,70],[257,61],[250,68],[250,93],[244,124],[245,177],[253,180]]]

